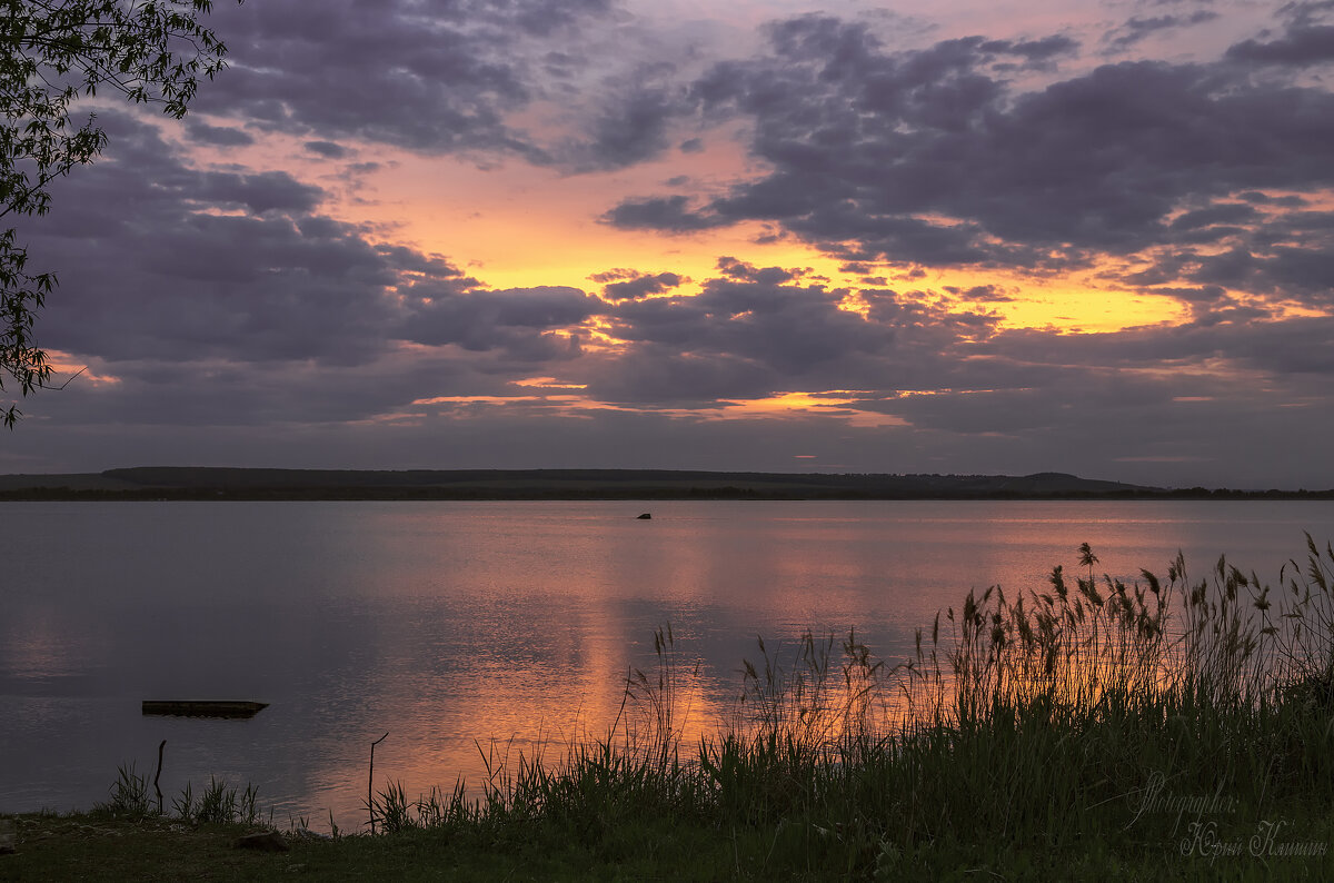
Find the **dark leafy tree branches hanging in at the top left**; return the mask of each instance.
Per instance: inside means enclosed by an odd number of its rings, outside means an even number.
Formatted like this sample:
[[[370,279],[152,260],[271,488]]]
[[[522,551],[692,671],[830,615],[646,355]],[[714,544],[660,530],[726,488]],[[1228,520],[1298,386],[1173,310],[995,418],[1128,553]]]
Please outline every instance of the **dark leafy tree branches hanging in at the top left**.
[[[240,3],[241,0],[237,0]],[[227,47],[204,27],[212,0],[0,0],[0,217],[51,209],[49,184],[92,163],[107,135],[95,113],[73,119],[99,89],[185,116],[201,80],[227,67]],[[0,232],[0,389],[24,396],[51,377],[33,339],[53,273],[27,269],[15,229]],[[12,427],[16,405],[0,409]]]

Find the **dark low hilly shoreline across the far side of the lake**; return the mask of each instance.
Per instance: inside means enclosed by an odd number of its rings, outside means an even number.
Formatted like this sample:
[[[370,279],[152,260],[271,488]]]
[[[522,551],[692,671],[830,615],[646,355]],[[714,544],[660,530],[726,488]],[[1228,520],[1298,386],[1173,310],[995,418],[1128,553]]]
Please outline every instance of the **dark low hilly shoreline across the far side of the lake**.
[[[1158,488],[1063,472],[888,475],[672,470],[136,467],[0,475],[0,500],[1331,500],[1323,491]]]

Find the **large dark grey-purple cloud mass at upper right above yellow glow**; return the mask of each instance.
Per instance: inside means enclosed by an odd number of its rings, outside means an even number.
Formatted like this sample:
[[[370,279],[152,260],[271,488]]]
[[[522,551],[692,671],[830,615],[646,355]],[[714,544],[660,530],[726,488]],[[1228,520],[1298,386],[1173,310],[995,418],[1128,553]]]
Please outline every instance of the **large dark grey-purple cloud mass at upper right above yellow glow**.
[[[1334,184],[1334,96],[1234,61],[1127,61],[1015,92],[1003,53],[1070,44],[968,37],[891,52],[828,16],[768,36],[770,55],[719,64],[692,89],[706,115],[752,123],[768,173],[707,201],[627,199],[607,223],[760,220],[854,263],[1065,272],[1163,243],[1226,243],[1261,220],[1234,195],[1277,208],[1293,195],[1265,191]]]

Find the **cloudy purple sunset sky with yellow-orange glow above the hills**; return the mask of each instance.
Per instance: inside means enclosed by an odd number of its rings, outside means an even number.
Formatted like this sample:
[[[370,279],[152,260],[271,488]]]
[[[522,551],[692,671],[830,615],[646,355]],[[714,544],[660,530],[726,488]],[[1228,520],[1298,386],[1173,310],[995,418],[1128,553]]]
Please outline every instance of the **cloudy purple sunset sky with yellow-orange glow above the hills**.
[[[1334,0],[217,0],[0,472],[1334,487]],[[12,391],[7,387],[4,393]]]

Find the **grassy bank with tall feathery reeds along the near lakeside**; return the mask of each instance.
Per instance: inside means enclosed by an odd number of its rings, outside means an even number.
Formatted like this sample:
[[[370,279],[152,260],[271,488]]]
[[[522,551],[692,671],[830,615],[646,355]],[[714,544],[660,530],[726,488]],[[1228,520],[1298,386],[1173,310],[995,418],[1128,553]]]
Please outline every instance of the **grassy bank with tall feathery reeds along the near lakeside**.
[[[699,743],[663,630],[606,738],[498,762],[480,798],[388,784],[376,836],[251,855],[227,823],[256,820],[253,795],[167,818],[123,775],[93,814],[20,818],[0,876],[1334,876],[1334,550],[1309,543],[1274,590],[1223,560],[1129,586],[1095,568],[1085,547],[1041,588],[970,594],[895,666],[855,635],[760,644],[736,720]]]

